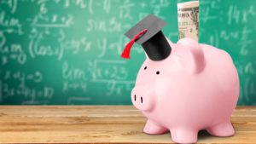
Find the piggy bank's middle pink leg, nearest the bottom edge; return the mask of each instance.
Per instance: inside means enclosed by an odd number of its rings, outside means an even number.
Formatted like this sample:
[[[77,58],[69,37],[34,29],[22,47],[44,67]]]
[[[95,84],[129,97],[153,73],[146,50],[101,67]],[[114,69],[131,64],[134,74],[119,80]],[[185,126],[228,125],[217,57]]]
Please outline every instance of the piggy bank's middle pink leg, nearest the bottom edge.
[[[192,128],[171,129],[172,141],[177,143],[195,143],[197,141],[198,130]]]

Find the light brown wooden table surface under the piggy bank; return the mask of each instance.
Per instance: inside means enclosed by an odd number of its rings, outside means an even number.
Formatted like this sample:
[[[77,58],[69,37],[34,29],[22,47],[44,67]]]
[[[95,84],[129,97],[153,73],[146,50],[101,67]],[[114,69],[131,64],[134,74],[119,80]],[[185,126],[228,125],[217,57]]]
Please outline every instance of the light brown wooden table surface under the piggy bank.
[[[0,106],[0,143],[172,143],[169,133],[143,133],[132,106]],[[237,107],[236,135],[199,133],[198,143],[256,143],[256,107]]]

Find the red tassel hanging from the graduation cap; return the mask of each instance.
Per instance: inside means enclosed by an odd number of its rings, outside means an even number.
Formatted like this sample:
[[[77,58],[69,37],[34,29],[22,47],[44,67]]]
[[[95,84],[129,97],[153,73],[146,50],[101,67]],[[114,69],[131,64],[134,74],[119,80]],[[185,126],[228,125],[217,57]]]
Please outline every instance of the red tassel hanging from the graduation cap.
[[[130,59],[130,51],[131,51],[131,47],[132,47],[133,43],[136,42],[137,39],[138,39],[139,37],[141,37],[143,34],[145,34],[147,31],[148,31],[148,29],[144,29],[143,31],[138,32],[138,33],[131,39],[131,41],[125,45],[125,49],[124,49],[124,51],[123,51],[123,53],[122,53],[122,55],[121,55],[122,58],[124,58],[124,59]]]

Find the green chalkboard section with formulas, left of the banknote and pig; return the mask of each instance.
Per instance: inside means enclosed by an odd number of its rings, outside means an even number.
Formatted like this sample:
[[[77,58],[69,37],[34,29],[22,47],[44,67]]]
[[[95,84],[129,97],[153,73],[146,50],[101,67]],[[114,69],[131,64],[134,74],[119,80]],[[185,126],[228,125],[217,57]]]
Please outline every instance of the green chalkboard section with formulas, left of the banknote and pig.
[[[177,3],[168,0],[1,0],[0,103],[131,104],[145,55],[120,58],[124,33],[148,14],[177,41]]]

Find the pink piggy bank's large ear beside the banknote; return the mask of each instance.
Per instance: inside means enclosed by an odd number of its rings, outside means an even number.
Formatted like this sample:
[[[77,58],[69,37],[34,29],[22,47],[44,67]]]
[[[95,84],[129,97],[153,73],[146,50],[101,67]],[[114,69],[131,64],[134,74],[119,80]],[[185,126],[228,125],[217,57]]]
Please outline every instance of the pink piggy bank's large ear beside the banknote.
[[[177,42],[177,49],[173,54],[178,56],[182,65],[189,72],[199,73],[205,66],[205,56],[201,45],[191,38],[183,38]]]

